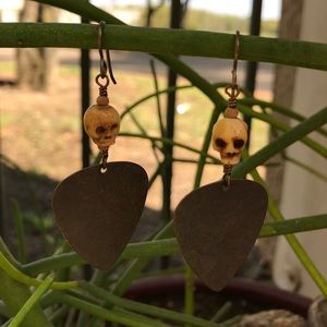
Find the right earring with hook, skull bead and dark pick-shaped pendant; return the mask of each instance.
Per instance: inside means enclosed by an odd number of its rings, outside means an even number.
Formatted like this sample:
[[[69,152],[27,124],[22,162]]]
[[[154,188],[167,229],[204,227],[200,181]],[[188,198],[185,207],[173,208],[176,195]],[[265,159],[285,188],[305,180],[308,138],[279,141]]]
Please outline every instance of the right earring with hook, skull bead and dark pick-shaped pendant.
[[[245,261],[263,226],[267,193],[253,181],[231,180],[247,141],[247,126],[238,118],[237,65],[240,34],[235,34],[232,83],[225,118],[213,129],[213,147],[220,153],[223,177],[187,194],[174,215],[175,237],[182,254],[210,289],[219,291]]]

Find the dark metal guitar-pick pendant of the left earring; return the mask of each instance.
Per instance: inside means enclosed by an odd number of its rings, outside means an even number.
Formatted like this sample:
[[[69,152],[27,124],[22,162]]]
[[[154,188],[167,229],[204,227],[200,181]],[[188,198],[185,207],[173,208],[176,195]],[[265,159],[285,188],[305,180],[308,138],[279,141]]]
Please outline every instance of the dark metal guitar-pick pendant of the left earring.
[[[147,193],[145,170],[133,162],[77,171],[55,190],[52,207],[69,244],[90,265],[106,270],[138,223]]]

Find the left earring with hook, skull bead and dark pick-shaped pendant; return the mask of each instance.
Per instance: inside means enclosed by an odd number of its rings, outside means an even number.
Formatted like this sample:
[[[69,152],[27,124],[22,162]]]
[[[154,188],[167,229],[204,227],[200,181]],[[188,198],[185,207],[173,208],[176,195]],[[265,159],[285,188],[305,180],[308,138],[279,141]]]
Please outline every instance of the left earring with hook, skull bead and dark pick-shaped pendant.
[[[105,23],[98,25],[100,73],[97,104],[84,114],[84,128],[98,146],[101,162],[73,173],[55,190],[52,207],[68,243],[90,265],[108,269],[131,239],[142,214],[148,186],[145,170],[128,161],[107,162],[120,129],[120,116],[109,105],[113,77],[109,50],[102,50]],[[107,70],[109,69],[109,76]]]

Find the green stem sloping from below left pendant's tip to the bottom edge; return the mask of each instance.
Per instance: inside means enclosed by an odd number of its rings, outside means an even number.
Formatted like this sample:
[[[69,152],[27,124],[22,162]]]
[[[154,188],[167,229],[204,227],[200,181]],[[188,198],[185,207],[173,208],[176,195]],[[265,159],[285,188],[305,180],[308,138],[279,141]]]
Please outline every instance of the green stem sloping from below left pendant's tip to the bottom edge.
[[[140,303],[136,301],[122,299],[117,295],[111,294],[108,291],[105,291],[101,288],[95,287],[87,282],[81,282],[81,288],[89,292],[92,295],[96,298],[100,298],[106,300],[108,303],[111,303],[114,306],[120,306],[122,308],[128,308],[130,311],[134,311],[137,313],[142,313],[145,315],[156,316],[164,319],[169,319],[171,322],[182,323],[182,324],[190,324],[192,326],[217,326],[217,324],[209,323],[205,319],[194,317],[192,315],[185,315],[181,313],[173,312],[171,310],[157,307],[154,305]]]

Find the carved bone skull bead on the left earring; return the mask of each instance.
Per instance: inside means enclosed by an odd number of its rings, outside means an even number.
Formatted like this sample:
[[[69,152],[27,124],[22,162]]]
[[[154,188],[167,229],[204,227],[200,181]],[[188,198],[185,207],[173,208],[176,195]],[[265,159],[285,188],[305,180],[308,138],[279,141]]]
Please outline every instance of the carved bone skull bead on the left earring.
[[[109,105],[90,106],[84,114],[84,129],[99,150],[107,150],[110,145],[114,144],[119,133],[119,113]]]

